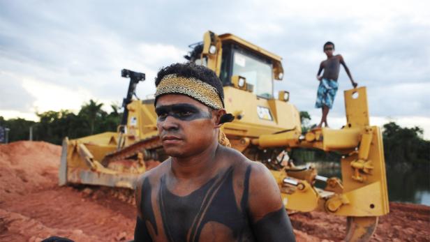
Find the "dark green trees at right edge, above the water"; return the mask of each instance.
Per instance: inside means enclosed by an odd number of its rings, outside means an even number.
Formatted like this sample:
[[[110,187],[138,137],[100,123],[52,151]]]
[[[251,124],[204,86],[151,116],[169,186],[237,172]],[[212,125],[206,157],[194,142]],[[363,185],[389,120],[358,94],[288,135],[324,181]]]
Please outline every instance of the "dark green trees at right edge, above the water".
[[[419,127],[401,128],[394,122],[383,126],[385,160],[390,163],[414,163],[429,165],[430,141],[422,139]]]

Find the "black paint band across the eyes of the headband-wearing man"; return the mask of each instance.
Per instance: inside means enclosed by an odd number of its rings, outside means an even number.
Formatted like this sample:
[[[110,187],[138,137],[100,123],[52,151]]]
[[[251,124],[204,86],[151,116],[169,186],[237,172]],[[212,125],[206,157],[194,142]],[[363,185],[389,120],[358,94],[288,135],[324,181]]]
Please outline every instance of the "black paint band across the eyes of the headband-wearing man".
[[[188,103],[159,106],[156,107],[155,112],[158,116],[158,121],[164,121],[168,116],[172,116],[181,121],[212,118],[211,112],[200,110],[198,107]]]

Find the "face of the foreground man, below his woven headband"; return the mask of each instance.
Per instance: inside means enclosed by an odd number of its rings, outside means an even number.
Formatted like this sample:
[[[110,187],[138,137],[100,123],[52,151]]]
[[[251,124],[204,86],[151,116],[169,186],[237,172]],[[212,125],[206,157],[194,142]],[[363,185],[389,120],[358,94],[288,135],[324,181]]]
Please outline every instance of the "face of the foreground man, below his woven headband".
[[[207,149],[216,137],[216,110],[184,95],[163,95],[155,108],[158,135],[168,156],[186,158]]]

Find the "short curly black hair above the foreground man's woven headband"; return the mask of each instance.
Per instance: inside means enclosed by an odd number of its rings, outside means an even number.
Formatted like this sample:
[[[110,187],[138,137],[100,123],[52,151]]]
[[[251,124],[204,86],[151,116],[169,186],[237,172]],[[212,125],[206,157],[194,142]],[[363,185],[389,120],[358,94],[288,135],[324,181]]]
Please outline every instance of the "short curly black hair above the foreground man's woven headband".
[[[180,77],[194,77],[202,82],[206,82],[207,84],[214,86],[216,91],[218,91],[221,100],[224,100],[223,84],[221,83],[221,80],[219,80],[213,70],[205,66],[196,65],[192,62],[173,63],[170,66],[165,66],[158,71],[157,77],[155,78],[155,86],[160,84],[165,75],[170,74],[176,74]]]

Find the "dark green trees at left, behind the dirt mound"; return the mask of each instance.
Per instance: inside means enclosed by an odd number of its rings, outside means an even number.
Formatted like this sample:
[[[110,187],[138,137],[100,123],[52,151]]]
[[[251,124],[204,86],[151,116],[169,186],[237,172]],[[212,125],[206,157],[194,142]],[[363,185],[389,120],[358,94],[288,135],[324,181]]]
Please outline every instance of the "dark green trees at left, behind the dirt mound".
[[[64,137],[71,139],[85,137],[107,131],[116,131],[122,113],[117,105],[111,105],[112,112],[103,109],[103,103],[89,100],[82,105],[80,112],[74,114],[70,110],[47,111],[36,114],[40,121],[24,119],[4,120],[0,116],[0,126],[10,128],[9,142],[29,139],[29,128],[33,126],[33,140],[43,140],[53,144],[61,144]]]

